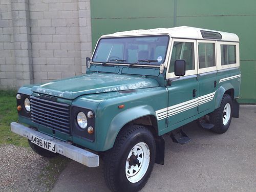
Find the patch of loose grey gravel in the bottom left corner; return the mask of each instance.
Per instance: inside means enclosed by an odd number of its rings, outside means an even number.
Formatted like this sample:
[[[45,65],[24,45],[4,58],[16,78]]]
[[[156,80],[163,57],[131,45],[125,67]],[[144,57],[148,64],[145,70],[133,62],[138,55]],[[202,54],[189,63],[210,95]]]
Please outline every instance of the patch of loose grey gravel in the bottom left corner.
[[[45,175],[49,160],[30,148],[0,146],[0,191],[48,191]]]

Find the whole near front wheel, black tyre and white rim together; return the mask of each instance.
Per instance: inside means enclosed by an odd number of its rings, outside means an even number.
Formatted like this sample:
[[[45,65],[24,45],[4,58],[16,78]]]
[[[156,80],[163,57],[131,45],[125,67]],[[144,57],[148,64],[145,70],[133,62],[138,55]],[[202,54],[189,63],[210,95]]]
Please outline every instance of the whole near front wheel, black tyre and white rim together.
[[[152,133],[141,125],[126,126],[106,152],[104,178],[112,191],[138,191],[150,178],[156,157]]]

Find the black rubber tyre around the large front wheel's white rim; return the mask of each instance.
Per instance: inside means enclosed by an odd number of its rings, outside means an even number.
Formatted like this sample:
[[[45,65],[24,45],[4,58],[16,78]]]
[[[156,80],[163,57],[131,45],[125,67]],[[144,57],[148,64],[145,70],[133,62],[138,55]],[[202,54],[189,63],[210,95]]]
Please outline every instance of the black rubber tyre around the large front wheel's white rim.
[[[137,144],[140,143],[145,143],[148,146],[150,150],[150,161],[147,169],[144,169],[144,176],[141,176],[142,178],[139,181],[133,183],[127,179],[129,176],[126,177],[126,167],[127,162],[130,163],[130,161],[132,161],[130,159],[132,159],[133,155],[130,157],[129,155]],[[113,148],[105,153],[104,179],[106,185],[111,191],[139,191],[145,186],[148,178],[150,178],[155,163],[155,158],[156,144],[152,133],[146,129],[146,127],[141,125],[129,125],[124,127],[118,134]],[[142,163],[138,163],[134,167],[136,166],[140,168],[144,167]],[[142,168],[141,170],[143,170]],[[140,170],[138,173],[139,172]]]

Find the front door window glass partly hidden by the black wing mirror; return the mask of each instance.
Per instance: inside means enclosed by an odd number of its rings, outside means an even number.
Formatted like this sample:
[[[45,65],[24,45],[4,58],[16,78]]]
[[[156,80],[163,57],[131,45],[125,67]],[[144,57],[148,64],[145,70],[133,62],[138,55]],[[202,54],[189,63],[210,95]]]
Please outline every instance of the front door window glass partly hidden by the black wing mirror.
[[[186,71],[195,69],[194,42],[174,42],[170,59],[169,73],[174,72],[174,63],[178,59],[186,61]]]

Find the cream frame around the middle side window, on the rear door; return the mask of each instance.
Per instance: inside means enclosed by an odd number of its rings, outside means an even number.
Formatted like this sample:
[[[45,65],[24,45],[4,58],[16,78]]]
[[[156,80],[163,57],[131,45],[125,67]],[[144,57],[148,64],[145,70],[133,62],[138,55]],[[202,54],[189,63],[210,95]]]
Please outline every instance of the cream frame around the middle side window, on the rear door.
[[[199,43],[200,42],[203,42],[203,43],[210,43],[210,44],[214,44],[214,47],[215,47],[215,66],[213,66],[213,67],[206,67],[206,68],[202,68],[202,69],[200,69],[199,68]],[[217,43],[216,43],[217,41],[215,41],[215,40],[197,40],[197,60],[198,60],[198,62],[197,62],[197,68],[198,68],[198,74],[200,74],[200,73],[207,73],[207,72],[212,72],[212,71],[217,71]]]

